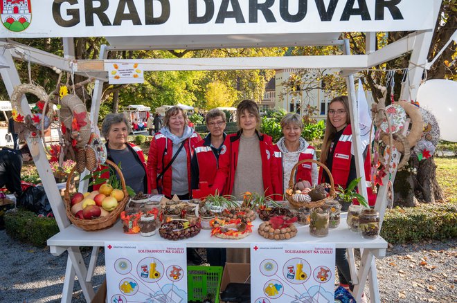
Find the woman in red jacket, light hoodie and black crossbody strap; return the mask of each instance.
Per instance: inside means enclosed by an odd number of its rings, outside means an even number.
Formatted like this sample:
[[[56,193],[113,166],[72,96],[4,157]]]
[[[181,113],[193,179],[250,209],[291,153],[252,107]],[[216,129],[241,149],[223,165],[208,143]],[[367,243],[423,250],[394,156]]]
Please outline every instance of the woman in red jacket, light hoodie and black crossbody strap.
[[[152,138],[147,172],[150,176],[153,194],[161,193],[171,199],[189,199],[190,159],[193,146],[201,137],[188,127],[186,113],[179,107],[172,107],[165,113],[165,125]]]

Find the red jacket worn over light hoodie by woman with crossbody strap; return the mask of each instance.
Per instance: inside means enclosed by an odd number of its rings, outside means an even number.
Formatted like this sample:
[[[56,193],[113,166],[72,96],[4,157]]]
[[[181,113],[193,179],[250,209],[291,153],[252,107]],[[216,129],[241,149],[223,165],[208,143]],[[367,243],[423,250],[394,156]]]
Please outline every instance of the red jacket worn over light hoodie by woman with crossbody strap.
[[[194,132],[190,138],[187,138],[184,143],[184,149],[187,154],[187,174],[188,174],[188,187],[190,188],[190,159],[193,154],[193,146],[201,140],[199,134]],[[168,167],[163,176],[157,180],[161,172],[168,163],[172,160],[173,142],[161,133],[156,133],[152,138],[149,156],[147,158],[147,174],[149,174],[151,182],[151,190],[158,190],[168,198],[171,197],[172,190],[172,168]]]

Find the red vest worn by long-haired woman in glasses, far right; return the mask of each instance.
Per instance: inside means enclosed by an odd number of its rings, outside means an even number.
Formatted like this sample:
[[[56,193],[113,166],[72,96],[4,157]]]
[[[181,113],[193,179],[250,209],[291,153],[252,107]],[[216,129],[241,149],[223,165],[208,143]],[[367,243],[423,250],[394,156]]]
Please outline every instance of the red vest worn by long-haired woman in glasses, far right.
[[[332,162],[332,177],[335,187],[341,185],[341,187],[346,188],[348,183],[349,171],[350,171],[350,160],[352,154],[350,152],[352,146],[352,129],[350,125],[346,126],[343,130],[343,134],[338,140],[337,146],[334,147],[333,153],[333,162]],[[370,182],[370,150],[368,149],[368,154],[364,160],[364,170],[365,178],[367,182]],[[325,182],[323,178],[323,169],[319,169],[319,180]],[[375,205],[376,203],[376,194],[373,193],[371,187],[367,187],[368,194],[368,204],[370,206]]]

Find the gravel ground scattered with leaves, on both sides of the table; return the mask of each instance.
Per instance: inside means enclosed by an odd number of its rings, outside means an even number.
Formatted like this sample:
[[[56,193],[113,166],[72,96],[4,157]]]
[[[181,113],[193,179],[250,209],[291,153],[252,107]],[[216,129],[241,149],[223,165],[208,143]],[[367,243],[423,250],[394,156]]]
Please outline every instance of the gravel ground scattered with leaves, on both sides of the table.
[[[10,239],[0,231],[3,244],[0,302],[60,302],[66,252],[59,257],[48,248],[35,248]],[[82,255],[89,262],[91,250]],[[457,239],[396,245],[378,259],[377,273],[382,302],[457,302]],[[98,257],[93,285],[105,279],[105,255]],[[72,302],[85,302],[75,282]],[[368,288],[366,288],[368,294]]]

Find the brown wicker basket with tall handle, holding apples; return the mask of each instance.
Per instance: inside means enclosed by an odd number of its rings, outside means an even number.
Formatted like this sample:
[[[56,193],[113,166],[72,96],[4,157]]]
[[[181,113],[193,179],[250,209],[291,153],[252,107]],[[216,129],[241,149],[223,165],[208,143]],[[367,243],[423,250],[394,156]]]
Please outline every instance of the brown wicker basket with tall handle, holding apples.
[[[82,220],[78,219],[73,214],[71,213],[71,202],[70,202],[70,181],[71,177],[73,176],[73,173],[75,172],[75,168],[71,169],[71,172],[69,173],[69,178],[66,181],[66,189],[65,189],[65,194],[64,194],[64,203],[65,203],[65,208],[66,208],[66,216],[69,217],[71,223],[73,223],[75,226],[78,226],[79,228],[82,228],[83,230],[87,231],[93,231],[93,230],[102,230],[105,228],[109,228],[116,223],[120,212],[122,212],[125,208],[125,205],[127,204],[127,201],[129,200],[129,194],[127,192],[127,187],[125,186],[125,180],[122,172],[120,171],[118,165],[115,163],[111,162],[110,160],[106,160],[107,165],[111,165],[111,167],[114,167],[116,169],[116,172],[118,172],[119,178],[120,178],[120,183],[122,184],[123,192],[124,192],[124,199],[122,199],[118,207],[111,211],[107,216],[105,217],[99,217],[97,219],[91,219],[91,220]]]

